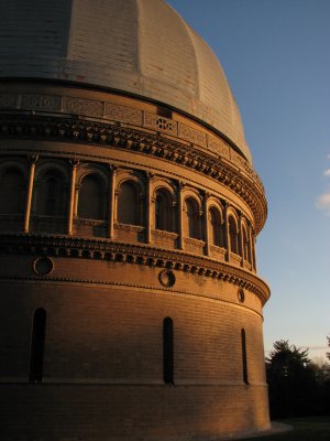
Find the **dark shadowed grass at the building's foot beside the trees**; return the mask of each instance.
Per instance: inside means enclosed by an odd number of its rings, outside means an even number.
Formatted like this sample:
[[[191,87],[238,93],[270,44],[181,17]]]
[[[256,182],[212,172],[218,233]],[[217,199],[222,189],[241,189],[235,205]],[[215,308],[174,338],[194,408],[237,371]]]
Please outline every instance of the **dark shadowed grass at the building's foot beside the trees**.
[[[293,430],[285,433],[271,434],[267,437],[249,438],[251,440],[264,441],[329,441],[330,417],[307,417],[280,420],[285,424],[293,426]],[[244,440],[242,440],[244,441]]]

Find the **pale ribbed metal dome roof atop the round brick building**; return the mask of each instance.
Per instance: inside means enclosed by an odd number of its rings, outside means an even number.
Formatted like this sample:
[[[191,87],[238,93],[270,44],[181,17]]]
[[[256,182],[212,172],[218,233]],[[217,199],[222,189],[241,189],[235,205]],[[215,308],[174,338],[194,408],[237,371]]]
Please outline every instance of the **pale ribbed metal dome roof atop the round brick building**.
[[[252,162],[218,58],[163,0],[0,0],[0,77],[161,101],[212,126]]]

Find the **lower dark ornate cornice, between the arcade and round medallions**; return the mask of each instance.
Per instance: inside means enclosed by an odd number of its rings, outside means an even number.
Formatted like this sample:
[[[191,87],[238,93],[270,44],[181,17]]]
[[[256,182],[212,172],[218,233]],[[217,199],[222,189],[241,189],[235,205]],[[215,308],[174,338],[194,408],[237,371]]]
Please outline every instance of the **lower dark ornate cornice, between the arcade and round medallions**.
[[[244,269],[208,257],[189,255],[182,250],[169,251],[147,245],[128,245],[105,239],[69,236],[2,234],[0,235],[0,252],[120,261],[168,268],[223,280],[244,288],[257,295],[262,304],[270,298],[268,286]]]

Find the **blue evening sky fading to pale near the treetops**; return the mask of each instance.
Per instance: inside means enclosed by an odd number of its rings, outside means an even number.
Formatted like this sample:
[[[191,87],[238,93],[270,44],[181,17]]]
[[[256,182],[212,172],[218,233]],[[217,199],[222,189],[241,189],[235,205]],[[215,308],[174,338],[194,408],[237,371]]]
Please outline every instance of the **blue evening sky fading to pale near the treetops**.
[[[330,336],[330,1],[167,0],[219,57],[268,201],[257,270],[277,340],[326,362]],[[328,348],[329,349],[329,348]]]

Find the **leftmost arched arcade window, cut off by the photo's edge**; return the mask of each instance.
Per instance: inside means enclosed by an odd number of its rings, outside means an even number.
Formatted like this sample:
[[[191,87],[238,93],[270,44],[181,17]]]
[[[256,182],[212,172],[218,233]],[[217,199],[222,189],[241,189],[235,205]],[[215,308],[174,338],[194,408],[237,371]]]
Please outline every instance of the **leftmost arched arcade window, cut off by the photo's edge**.
[[[20,170],[8,169],[0,179],[0,214],[22,214],[24,179]]]

